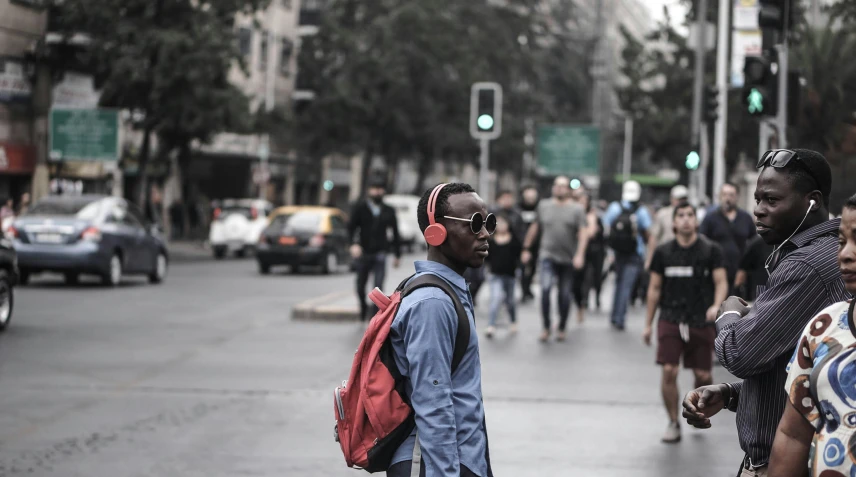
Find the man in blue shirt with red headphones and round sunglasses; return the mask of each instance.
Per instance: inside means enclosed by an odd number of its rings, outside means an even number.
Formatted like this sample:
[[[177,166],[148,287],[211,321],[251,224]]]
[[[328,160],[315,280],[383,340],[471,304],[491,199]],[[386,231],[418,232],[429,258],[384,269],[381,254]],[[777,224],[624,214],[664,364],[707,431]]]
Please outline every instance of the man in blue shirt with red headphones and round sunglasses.
[[[401,301],[389,336],[416,429],[395,453],[387,476],[492,477],[478,333],[463,274],[484,264],[496,218],[470,185],[460,183],[426,191],[417,217],[428,259],[416,262],[411,279],[432,274],[449,284],[469,318],[469,342],[452,372],[458,330],[452,298],[440,288],[426,287]]]

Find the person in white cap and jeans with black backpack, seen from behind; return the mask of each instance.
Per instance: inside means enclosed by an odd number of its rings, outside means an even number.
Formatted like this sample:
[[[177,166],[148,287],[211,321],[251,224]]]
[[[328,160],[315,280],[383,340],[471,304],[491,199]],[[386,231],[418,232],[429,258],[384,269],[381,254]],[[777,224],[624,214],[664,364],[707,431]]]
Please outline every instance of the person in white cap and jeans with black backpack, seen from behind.
[[[612,326],[624,330],[627,306],[642,271],[645,244],[651,216],[645,207],[639,206],[642,186],[636,181],[627,181],[621,189],[621,201],[609,205],[603,216],[609,228],[607,244],[615,252],[615,293],[612,305]]]

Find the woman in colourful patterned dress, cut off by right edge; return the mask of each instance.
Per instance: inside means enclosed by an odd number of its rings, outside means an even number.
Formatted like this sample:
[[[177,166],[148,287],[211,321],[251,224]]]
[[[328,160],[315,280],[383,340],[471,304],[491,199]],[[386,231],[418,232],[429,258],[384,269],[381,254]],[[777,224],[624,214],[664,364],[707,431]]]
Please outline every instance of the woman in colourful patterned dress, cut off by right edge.
[[[844,206],[838,266],[856,294],[856,195]],[[771,477],[856,477],[856,325],[853,300],[812,319],[788,365],[790,405],[779,422]]]

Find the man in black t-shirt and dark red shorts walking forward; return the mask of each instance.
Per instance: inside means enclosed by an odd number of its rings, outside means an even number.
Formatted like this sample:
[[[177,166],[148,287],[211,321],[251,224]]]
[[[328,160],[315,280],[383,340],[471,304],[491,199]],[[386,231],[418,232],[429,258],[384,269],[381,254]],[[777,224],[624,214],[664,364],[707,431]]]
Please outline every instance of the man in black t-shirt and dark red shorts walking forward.
[[[651,259],[648,316],[642,339],[651,345],[651,326],[657,323],[657,364],[663,366],[662,392],[669,426],[663,442],[681,440],[678,425],[678,366],[695,374],[696,388],[713,383],[713,348],[719,305],[728,293],[722,249],[698,234],[698,218],[692,205],[675,206],[672,218],[675,238],[657,247]]]

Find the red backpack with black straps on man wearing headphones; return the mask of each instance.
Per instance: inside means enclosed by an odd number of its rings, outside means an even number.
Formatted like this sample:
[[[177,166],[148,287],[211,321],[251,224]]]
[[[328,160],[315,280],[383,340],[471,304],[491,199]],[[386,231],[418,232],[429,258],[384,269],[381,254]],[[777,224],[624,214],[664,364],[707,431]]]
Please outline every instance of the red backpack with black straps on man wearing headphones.
[[[452,373],[458,368],[470,342],[470,322],[458,296],[442,278],[420,275],[403,281],[386,296],[375,288],[369,298],[378,307],[354,355],[351,374],[333,392],[336,414],[335,438],[348,467],[368,472],[386,471],[393,454],[413,432],[416,420],[405,393],[405,378],[393,357],[389,330],[401,300],[414,290],[436,287],[452,299],[458,314],[458,331],[452,355]],[[409,282],[409,283],[408,283]],[[430,320],[432,316],[419,319]]]

